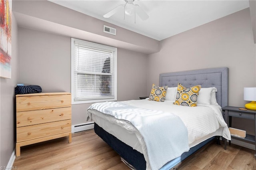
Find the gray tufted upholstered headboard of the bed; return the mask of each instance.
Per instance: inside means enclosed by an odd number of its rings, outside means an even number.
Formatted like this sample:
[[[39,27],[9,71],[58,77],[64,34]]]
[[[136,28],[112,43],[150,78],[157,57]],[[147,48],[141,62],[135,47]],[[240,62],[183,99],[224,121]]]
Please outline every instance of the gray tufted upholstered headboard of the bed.
[[[178,83],[181,83],[184,87],[191,87],[194,85],[201,85],[202,87],[216,87],[217,103],[221,107],[228,105],[227,67],[160,74],[159,86],[162,87],[168,85],[168,87],[176,87]]]

